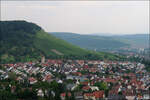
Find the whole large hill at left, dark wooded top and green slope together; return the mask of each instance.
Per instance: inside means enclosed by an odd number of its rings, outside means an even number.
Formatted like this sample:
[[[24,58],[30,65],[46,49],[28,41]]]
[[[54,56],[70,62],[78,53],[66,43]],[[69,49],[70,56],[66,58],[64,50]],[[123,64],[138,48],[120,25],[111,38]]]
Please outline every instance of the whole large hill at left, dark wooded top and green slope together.
[[[41,55],[55,59],[120,59],[113,54],[81,49],[26,21],[0,21],[0,37],[0,63],[33,61]]]

